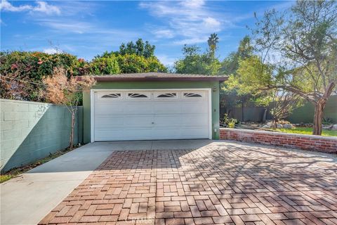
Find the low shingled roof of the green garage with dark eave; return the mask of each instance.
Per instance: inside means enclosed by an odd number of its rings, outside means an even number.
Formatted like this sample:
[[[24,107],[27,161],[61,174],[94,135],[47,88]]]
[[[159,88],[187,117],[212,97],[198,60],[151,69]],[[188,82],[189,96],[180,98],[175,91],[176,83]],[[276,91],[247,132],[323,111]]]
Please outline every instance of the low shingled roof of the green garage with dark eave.
[[[224,82],[227,76],[192,75],[164,72],[126,73],[119,75],[94,76],[98,82],[124,82],[124,81],[218,81]]]

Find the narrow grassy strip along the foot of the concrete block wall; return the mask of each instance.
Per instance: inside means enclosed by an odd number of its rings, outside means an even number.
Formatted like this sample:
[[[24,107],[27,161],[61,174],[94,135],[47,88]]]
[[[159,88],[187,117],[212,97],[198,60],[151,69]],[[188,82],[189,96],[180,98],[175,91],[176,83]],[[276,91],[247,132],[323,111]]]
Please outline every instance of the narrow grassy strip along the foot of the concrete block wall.
[[[77,147],[74,147],[72,148],[72,150],[76,149]],[[58,158],[59,156],[65,154],[65,153],[68,153],[70,152],[70,149],[67,148],[65,150],[60,150],[56,153],[53,153],[51,155],[49,155],[48,157],[46,158],[43,158],[41,160],[37,160],[36,162],[32,163],[32,164],[29,164],[29,165],[25,165],[23,167],[18,167],[18,168],[14,168],[14,169],[11,169],[10,171],[4,173],[4,174],[0,174],[0,183],[3,183],[5,181],[8,181],[16,176],[19,176],[20,174],[23,174],[24,172],[27,172],[29,169],[33,169],[34,167],[37,167],[39,165],[42,165],[48,161],[51,161],[55,158]]]

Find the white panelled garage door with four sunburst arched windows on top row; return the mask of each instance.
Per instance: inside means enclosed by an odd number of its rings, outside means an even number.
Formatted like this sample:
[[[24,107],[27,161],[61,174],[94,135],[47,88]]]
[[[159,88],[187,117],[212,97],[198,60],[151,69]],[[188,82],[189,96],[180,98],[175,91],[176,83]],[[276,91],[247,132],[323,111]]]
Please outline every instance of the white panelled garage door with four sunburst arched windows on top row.
[[[208,91],[94,91],[93,140],[209,139]]]

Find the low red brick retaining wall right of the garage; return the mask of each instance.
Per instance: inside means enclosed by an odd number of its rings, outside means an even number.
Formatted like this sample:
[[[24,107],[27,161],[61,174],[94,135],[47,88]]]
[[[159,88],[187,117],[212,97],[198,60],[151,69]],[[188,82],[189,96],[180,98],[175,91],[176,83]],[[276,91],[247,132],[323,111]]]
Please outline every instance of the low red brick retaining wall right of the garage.
[[[220,139],[337,153],[336,137],[221,128]]]

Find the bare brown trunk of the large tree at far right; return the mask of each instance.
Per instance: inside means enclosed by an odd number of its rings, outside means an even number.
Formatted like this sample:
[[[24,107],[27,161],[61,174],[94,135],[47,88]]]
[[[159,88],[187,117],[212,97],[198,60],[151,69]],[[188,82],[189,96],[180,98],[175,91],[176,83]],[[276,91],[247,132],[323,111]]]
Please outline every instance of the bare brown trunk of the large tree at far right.
[[[322,135],[323,110],[335,85],[335,83],[331,82],[328,88],[324,91],[322,98],[319,98],[319,100],[315,103],[314,126],[312,127],[313,135]]]

